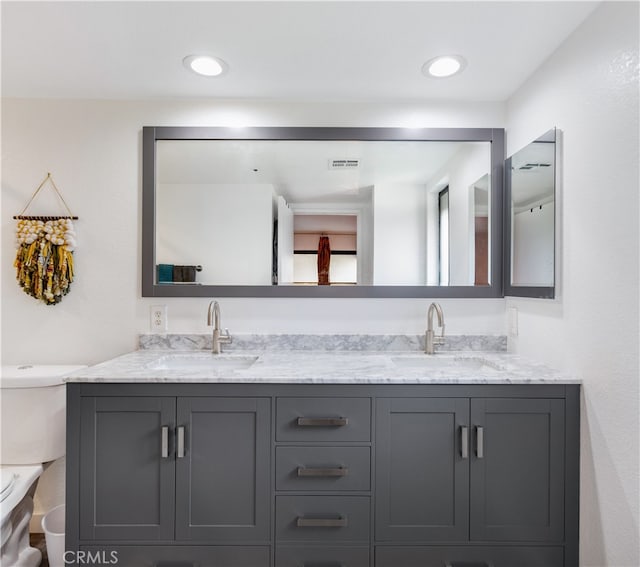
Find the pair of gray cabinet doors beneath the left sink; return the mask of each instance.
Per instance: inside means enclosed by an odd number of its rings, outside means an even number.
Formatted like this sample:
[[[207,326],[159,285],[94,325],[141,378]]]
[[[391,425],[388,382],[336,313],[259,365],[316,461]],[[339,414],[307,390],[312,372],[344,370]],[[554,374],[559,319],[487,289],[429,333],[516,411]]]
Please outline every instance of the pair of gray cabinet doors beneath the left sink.
[[[83,397],[80,539],[268,544],[270,414],[268,398]]]

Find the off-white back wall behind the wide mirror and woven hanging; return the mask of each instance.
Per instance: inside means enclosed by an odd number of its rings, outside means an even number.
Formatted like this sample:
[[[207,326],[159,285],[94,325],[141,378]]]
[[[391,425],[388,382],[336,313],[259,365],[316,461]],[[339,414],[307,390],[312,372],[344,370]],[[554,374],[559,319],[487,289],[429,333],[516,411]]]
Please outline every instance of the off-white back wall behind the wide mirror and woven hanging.
[[[141,128],[145,125],[501,127],[500,103],[331,104],[259,101],[2,101],[2,355],[7,364],[97,363],[136,348],[152,304],[169,332],[202,332],[208,298],[140,292]],[[14,223],[47,171],[73,212],[71,292],[54,307],[15,283]],[[451,333],[504,333],[504,301],[443,301]],[[420,333],[426,299],[222,298],[232,333]]]

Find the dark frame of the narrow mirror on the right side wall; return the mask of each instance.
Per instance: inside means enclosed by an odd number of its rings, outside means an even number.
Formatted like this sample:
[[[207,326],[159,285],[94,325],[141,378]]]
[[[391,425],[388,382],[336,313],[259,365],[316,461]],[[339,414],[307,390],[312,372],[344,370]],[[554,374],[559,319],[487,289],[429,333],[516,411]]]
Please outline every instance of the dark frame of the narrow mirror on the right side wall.
[[[554,163],[554,202],[556,207],[554,219],[554,283],[551,286],[526,286],[514,285],[511,283],[511,203],[512,203],[512,185],[511,185],[511,163],[513,156],[509,156],[505,160],[504,166],[504,295],[505,297],[532,297],[537,299],[554,299],[556,296],[556,282],[558,279],[558,251],[556,249],[558,239],[558,179],[561,168],[560,156],[560,131],[552,128],[545,134],[533,140],[534,142],[549,142],[555,144],[555,163]]]

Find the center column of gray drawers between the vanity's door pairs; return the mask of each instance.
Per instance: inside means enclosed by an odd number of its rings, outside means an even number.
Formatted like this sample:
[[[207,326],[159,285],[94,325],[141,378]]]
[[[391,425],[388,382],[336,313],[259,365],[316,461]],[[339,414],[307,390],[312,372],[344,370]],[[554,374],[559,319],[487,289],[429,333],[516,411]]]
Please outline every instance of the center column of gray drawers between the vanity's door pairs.
[[[372,400],[338,391],[276,398],[275,567],[370,565]]]

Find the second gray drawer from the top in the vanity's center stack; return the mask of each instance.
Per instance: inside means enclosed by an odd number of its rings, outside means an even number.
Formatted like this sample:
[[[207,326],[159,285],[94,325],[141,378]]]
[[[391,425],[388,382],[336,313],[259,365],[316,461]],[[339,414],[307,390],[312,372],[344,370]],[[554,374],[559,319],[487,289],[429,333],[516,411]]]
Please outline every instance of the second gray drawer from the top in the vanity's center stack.
[[[278,447],[277,490],[369,490],[369,447]]]

